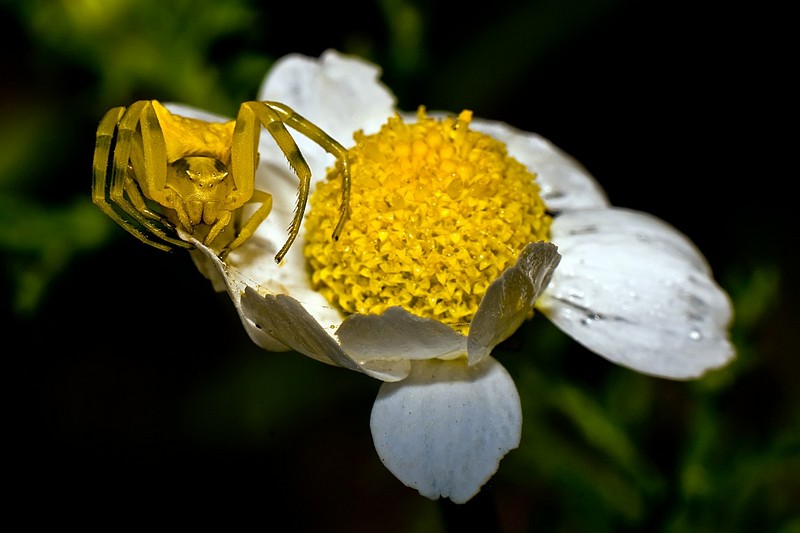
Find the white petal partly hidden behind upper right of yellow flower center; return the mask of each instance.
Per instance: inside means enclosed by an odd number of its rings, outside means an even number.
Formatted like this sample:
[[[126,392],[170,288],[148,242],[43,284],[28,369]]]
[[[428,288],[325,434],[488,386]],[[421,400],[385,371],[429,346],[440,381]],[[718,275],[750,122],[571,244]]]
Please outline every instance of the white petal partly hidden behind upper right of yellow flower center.
[[[544,137],[489,120],[476,119],[472,127],[506,143],[508,153],[537,174],[542,199],[552,211],[609,205],[594,177]]]

